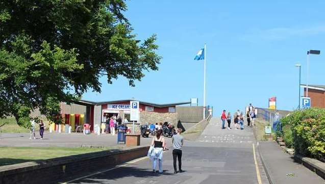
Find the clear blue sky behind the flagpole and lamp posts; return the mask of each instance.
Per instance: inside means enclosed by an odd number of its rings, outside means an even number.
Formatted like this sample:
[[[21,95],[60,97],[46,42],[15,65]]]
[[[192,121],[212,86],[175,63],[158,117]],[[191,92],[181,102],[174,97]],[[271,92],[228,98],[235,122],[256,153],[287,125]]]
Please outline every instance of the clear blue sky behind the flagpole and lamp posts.
[[[214,113],[243,109],[249,102],[267,107],[298,105],[298,68],[302,83],[310,57],[310,84],[325,84],[325,1],[127,1],[125,13],[138,39],[157,34],[158,71],[146,72],[136,87],[119,77],[112,85],[101,78],[102,93],[88,100],[136,98],[156,103],[203,104],[203,61],[194,61],[207,44],[207,104]]]

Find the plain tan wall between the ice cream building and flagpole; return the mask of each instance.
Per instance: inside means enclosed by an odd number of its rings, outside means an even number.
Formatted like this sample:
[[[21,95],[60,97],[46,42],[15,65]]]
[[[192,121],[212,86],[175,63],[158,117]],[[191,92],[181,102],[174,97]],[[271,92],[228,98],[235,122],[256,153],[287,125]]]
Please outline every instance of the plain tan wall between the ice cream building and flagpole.
[[[177,106],[176,113],[177,119],[181,122],[199,122],[203,119],[203,107],[202,106]]]

